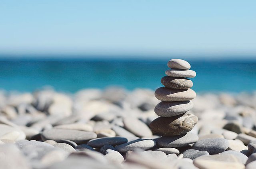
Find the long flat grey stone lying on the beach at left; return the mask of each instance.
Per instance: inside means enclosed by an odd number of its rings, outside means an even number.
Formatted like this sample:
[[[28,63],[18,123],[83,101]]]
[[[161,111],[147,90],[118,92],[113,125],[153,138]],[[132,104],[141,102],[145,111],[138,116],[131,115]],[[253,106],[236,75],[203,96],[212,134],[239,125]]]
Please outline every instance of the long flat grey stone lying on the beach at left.
[[[75,143],[85,143],[87,140],[91,140],[97,137],[94,132],[84,132],[79,130],[67,130],[67,129],[57,129],[53,128],[50,130],[45,130],[42,133],[43,140],[54,140],[60,141],[62,139],[74,141]]]

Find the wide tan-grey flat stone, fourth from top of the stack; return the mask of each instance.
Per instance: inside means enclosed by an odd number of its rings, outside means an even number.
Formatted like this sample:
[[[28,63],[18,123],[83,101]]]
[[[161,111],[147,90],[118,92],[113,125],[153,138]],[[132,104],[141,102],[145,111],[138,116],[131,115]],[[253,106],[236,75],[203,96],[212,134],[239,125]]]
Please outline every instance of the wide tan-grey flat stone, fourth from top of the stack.
[[[156,89],[155,96],[158,100],[164,102],[187,101],[196,97],[194,90],[188,89],[173,89],[160,87]]]

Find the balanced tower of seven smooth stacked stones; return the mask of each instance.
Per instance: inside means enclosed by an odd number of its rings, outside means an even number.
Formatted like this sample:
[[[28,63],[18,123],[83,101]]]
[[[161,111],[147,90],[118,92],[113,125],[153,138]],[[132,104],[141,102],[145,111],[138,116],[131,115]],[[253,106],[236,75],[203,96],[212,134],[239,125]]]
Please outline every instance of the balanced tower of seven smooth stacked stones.
[[[161,79],[164,87],[155,91],[156,98],[162,101],[154,109],[160,117],[151,122],[150,128],[164,135],[158,139],[158,145],[179,147],[181,144],[172,143],[178,139],[183,143],[181,146],[185,146],[198,140],[196,135],[188,133],[198,122],[197,116],[188,112],[194,105],[190,100],[196,97],[196,92],[190,89],[193,83],[187,78],[196,77],[196,72],[189,70],[190,64],[181,59],[172,59],[167,65],[171,69]],[[187,133],[190,136],[185,136]]]

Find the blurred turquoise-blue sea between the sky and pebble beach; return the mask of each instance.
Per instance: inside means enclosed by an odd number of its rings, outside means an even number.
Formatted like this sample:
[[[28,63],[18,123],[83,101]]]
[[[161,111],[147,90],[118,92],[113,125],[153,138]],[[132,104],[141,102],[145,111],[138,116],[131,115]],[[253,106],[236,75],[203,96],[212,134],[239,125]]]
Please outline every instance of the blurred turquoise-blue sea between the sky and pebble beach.
[[[0,61],[0,89],[33,91],[53,86],[57,91],[122,86],[156,89],[168,60],[29,60]],[[189,61],[189,60],[188,60]],[[196,71],[196,92],[256,90],[256,61],[189,61]]]

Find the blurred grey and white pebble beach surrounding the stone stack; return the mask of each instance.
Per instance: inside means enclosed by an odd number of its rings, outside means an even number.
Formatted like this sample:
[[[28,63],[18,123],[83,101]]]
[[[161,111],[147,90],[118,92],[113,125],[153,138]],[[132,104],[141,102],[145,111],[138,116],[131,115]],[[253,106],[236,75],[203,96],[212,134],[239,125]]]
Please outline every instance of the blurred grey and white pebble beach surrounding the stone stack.
[[[0,94],[0,166],[57,168],[256,167],[256,93],[199,93],[187,134],[153,133],[150,89],[108,87]]]

